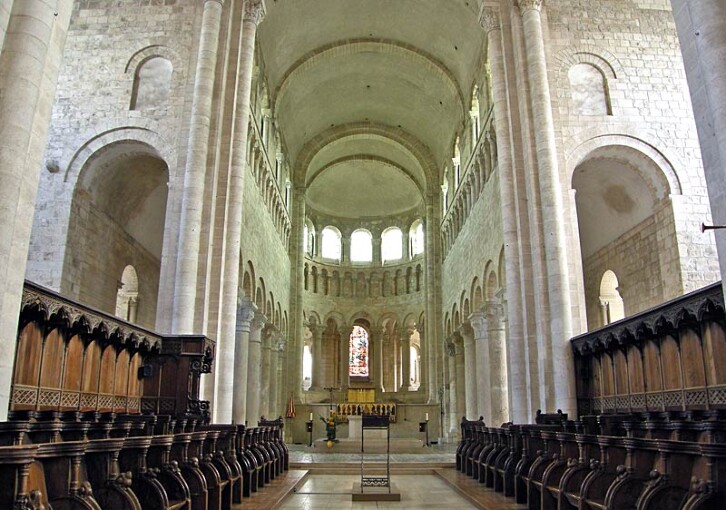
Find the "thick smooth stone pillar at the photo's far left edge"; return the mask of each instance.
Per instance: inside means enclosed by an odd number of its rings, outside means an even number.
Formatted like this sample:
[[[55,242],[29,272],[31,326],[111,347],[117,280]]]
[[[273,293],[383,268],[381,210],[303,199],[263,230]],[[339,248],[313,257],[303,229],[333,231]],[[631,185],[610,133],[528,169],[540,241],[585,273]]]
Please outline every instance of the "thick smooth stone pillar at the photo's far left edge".
[[[0,420],[10,402],[35,197],[72,7],[71,0],[12,2],[0,48]]]

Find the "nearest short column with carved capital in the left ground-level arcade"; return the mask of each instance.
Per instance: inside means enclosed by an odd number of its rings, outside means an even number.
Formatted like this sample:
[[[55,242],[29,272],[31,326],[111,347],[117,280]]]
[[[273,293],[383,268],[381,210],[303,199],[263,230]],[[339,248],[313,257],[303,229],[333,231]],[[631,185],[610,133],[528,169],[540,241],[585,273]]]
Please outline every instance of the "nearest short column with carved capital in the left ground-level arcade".
[[[226,377],[225,380],[229,380],[232,384],[226,388],[226,391],[231,393],[233,396],[232,400],[232,420],[234,423],[245,423],[245,416],[247,415],[247,374],[249,365],[249,345],[250,345],[250,329],[252,326],[252,320],[255,318],[257,313],[257,306],[249,299],[244,298],[237,308],[237,326],[235,331],[234,343],[236,344],[234,349],[234,364],[232,367],[228,367],[228,370],[232,371],[230,377]],[[217,358],[217,370],[222,364],[222,360],[218,356]],[[222,380],[222,374],[219,379]],[[217,383],[219,388],[220,383]]]

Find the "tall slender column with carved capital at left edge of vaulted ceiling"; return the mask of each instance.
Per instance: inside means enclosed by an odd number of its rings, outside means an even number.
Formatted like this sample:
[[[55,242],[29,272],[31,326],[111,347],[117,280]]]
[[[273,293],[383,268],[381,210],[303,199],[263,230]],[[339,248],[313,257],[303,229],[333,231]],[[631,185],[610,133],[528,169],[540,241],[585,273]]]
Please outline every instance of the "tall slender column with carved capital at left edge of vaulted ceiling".
[[[232,419],[233,387],[236,374],[230,366],[235,356],[235,315],[239,292],[239,260],[242,237],[242,195],[247,168],[247,131],[250,115],[250,92],[255,56],[257,24],[265,15],[263,0],[245,0],[240,41],[240,65],[237,77],[237,104],[232,137],[232,161],[227,183],[227,219],[225,224],[224,274],[222,275],[222,306],[217,336],[217,385],[215,387],[215,421],[227,423]],[[238,374],[237,374],[238,375]],[[244,408],[238,409],[242,418]],[[235,416],[235,419],[237,417]]]

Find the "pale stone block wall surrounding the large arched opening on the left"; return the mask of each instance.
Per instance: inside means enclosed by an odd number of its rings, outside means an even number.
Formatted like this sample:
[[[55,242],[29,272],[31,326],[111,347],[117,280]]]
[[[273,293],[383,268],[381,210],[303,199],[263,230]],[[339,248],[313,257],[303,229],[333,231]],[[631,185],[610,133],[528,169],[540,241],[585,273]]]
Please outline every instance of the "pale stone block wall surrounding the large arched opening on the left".
[[[167,236],[178,224],[183,182],[190,60],[202,4],[193,0],[75,2],[60,68],[41,173],[27,278],[61,289],[63,260],[78,176],[107,146],[135,140],[169,168]],[[162,56],[173,66],[164,105],[130,110],[136,69]],[[191,67],[193,69],[193,66]],[[177,154],[182,155],[177,157]],[[89,303],[93,305],[94,303]]]

